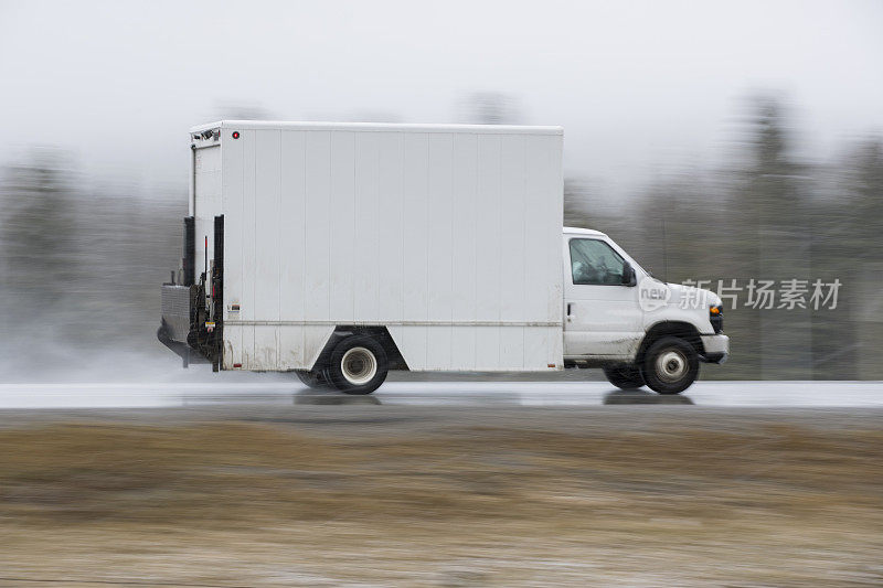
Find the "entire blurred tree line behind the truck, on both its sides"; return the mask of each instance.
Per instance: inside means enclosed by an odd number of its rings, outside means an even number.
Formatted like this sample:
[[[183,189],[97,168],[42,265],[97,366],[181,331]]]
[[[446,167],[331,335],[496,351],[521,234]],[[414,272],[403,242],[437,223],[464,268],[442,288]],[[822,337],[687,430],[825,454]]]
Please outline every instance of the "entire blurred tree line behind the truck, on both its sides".
[[[504,95],[472,103],[470,121],[518,122]],[[727,165],[669,174],[628,206],[566,179],[565,224],[608,233],[667,281],[711,280],[716,291],[737,280],[737,308],[724,300],[732,360],[704,377],[883,378],[881,137],[834,161],[801,161],[787,111],[769,97],[751,103],[741,130]],[[181,256],[183,189],[84,185],[70,154],[51,149],[0,177],[6,362],[76,362],[103,349],[168,355],[155,332],[159,285]],[[842,286],[836,309],[757,309],[746,306],[753,278]]]

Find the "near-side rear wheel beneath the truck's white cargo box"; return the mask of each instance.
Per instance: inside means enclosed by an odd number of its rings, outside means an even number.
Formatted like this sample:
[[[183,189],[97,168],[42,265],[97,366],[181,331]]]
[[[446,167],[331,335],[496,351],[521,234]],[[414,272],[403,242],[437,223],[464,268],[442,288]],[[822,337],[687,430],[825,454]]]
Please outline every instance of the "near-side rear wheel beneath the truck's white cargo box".
[[[347,394],[371,394],[386,379],[386,352],[366,335],[352,335],[340,341],[331,352],[325,371],[328,381]]]

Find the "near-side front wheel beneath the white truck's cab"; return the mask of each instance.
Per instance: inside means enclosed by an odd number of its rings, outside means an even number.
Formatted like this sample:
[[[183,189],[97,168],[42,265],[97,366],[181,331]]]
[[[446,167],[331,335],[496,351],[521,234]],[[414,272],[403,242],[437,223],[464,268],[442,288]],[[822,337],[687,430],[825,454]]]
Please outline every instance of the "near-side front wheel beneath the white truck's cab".
[[[663,336],[643,356],[643,379],[659,394],[680,394],[699,376],[699,354],[678,336]]]

